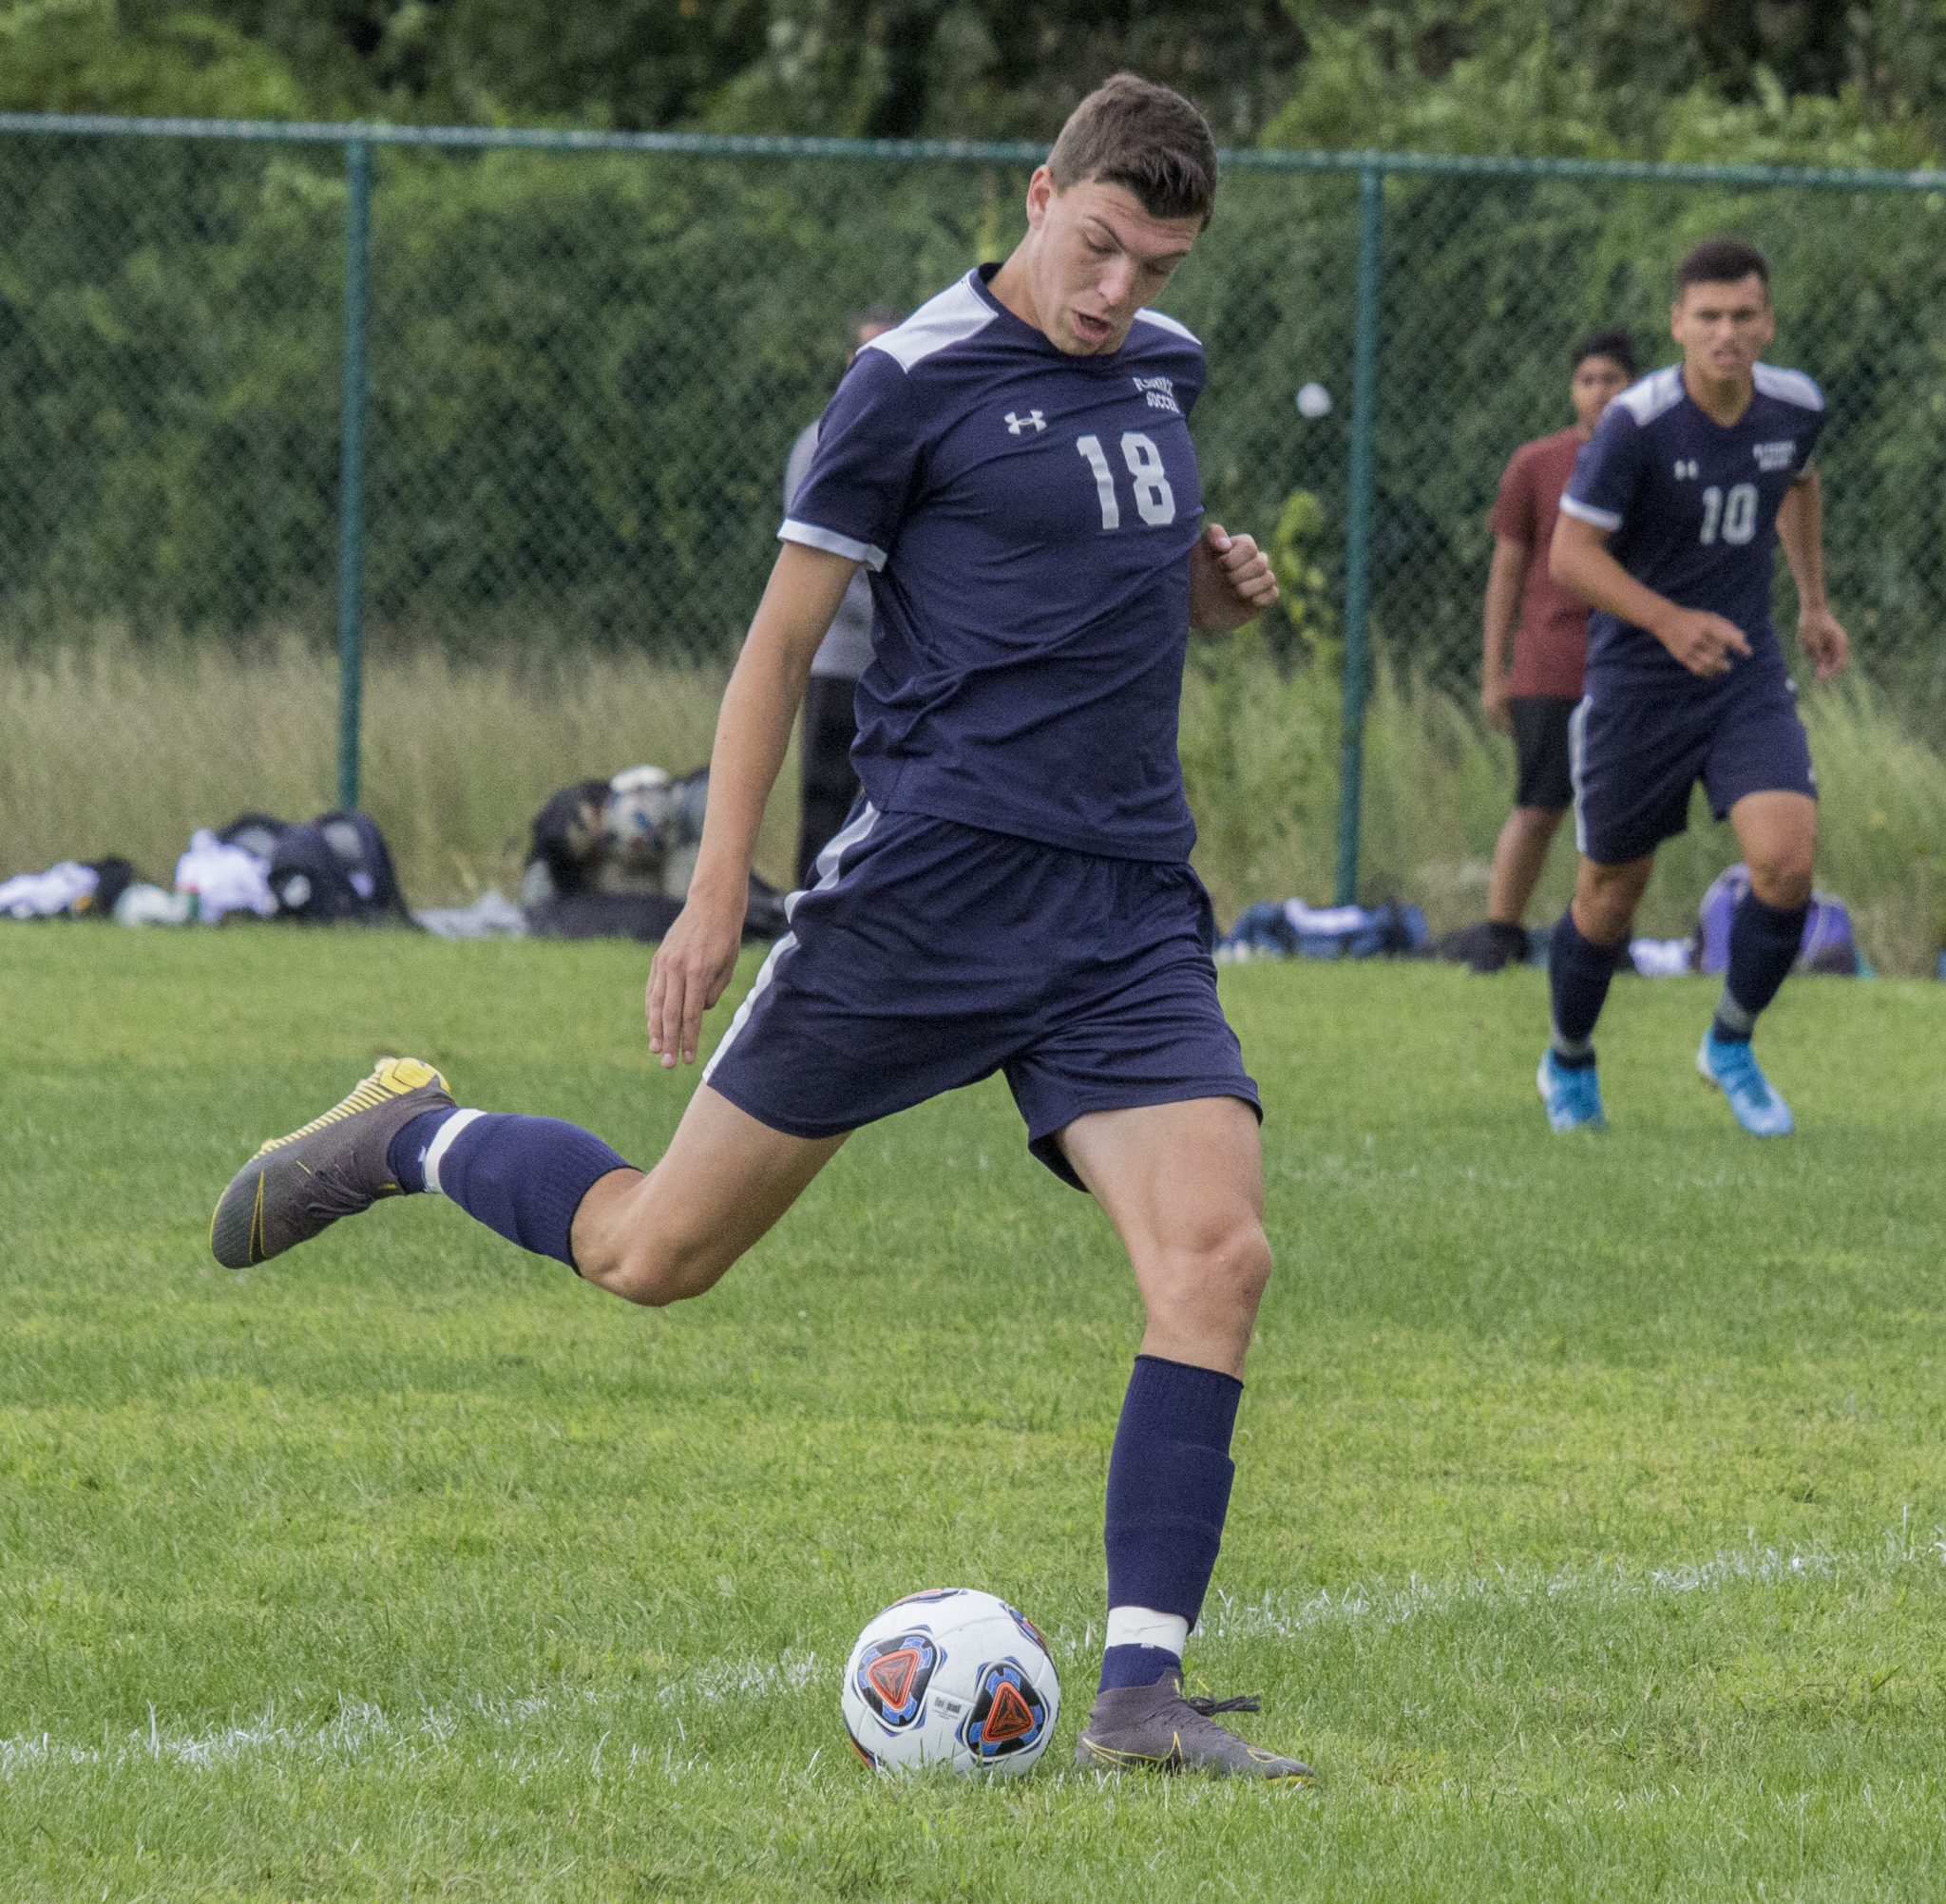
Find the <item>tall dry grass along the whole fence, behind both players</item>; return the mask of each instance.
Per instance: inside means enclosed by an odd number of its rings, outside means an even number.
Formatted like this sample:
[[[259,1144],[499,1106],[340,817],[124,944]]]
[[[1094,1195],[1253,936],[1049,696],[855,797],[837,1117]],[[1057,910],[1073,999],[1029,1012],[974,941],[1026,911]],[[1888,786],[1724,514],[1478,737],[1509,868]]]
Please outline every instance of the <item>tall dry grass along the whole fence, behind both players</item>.
[[[522,667],[436,650],[376,659],[366,679],[364,803],[414,902],[520,881],[527,821],[559,786],[638,760],[706,758],[720,669],[627,655]],[[1930,970],[1946,928],[1946,757],[1934,727],[1862,685],[1804,696],[1823,786],[1820,883],[1841,893],[1884,970]],[[1331,897],[1337,685],[1280,673],[1253,642],[1199,653],[1183,694],[1197,864],[1218,912]],[[239,659],[206,646],[99,638],[0,667],[0,875],[126,854],[167,879],[195,827],[245,809],[323,811],[337,780],[337,671],[288,644]],[[1380,675],[1366,737],[1362,889],[1419,900],[1436,928],[1477,918],[1512,753],[1471,708]],[[796,772],[765,815],[759,871],[784,883]],[[1701,803],[1660,856],[1642,930],[1685,932],[1736,858]],[[1572,877],[1563,834],[1533,916]]]

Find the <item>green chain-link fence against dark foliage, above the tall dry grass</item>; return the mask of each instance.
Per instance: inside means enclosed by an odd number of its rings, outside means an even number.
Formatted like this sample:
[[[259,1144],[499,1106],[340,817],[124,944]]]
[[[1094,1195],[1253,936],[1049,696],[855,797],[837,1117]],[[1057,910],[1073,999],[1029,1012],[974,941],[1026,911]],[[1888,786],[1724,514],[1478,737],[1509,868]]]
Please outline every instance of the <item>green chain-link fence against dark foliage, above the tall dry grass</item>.
[[[728,655],[848,315],[1004,255],[1037,156],[0,117],[0,638]],[[1860,661],[1946,704],[1940,175],[1230,156],[1168,303],[1284,659],[1471,694],[1506,457],[1568,420],[1582,331],[1668,360],[1674,261],[1720,229],[1831,399]]]

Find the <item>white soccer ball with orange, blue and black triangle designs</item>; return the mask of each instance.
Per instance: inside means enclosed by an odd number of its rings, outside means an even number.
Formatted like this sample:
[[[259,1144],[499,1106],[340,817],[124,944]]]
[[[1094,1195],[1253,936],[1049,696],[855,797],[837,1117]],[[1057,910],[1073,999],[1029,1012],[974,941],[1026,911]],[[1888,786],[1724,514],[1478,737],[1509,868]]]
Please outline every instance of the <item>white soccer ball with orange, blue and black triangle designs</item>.
[[[845,1661],[845,1731],[880,1772],[1026,1772],[1061,1717],[1061,1678],[1033,1622],[973,1587],[893,1601]]]

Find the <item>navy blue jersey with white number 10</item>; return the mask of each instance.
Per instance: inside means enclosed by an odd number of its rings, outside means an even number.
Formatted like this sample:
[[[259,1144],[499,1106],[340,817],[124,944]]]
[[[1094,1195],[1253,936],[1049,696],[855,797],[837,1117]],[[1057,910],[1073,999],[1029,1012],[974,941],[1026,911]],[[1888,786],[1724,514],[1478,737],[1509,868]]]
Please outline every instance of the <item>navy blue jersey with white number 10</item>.
[[[1810,467],[1823,393],[1796,370],[1755,368],[1749,408],[1718,424],[1683,385],[1681,366],[1625,389],[1582,445],[1561,508],[1611,531],[1609,554],[1658,595],[1736,622],[1751,646],[1738,675],[1783,669],[1771,626],[1777,510]],[[1691,675],[1646,628],[1604,609],[1588,617],[1588,687],[1716,687]]]

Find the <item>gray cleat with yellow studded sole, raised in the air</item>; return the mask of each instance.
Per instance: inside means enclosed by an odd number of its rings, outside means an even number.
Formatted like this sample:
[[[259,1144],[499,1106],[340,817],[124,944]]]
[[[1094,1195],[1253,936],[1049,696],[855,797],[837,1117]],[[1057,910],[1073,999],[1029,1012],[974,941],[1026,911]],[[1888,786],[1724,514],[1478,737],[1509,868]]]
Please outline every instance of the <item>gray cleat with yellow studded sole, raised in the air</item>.
[[[422,1111],[451,1111],[446,1079],[418,1058],[381,1058],[378,1070],[323,1116],[288,1138],[270,1138],[230,1179],[210,1217],[210,1249],[226,1270],[243,1270],[307,1243],[341,1216],[403,1196],[385,1155]]]

